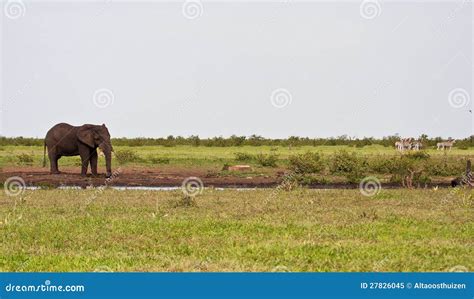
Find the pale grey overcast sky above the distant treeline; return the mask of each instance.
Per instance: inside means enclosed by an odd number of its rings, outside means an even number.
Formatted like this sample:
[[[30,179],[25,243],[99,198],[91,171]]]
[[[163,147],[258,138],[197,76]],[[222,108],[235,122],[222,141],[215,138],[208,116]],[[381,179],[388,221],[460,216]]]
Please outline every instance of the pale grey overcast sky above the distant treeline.
[[[3,136],[473,133],[470,2],[18,1]]]

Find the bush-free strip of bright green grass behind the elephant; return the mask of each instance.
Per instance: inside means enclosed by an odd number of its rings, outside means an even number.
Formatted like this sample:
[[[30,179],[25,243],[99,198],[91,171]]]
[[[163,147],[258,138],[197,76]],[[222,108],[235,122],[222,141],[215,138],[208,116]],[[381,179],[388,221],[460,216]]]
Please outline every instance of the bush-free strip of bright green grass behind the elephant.
[[[138,165],[153,166],[155,163],[149,159],[150,157],[161,157],[169,159],[171,165],[181,166],[222,166],[224,163],[235,162],[235,153],[246,154],[276,154],[284,165],[285,160],[291,155],[302,154],[305,152],[319,152],[322,155],[330,155],[339,150],[346,150],[348,152],[355,152],[361,156],[366,157],[382,157],[391,158],[399,156],[400,154],[392,147],[384,147],[380,145],[365,146],[363,148],[349,147],[349,146],[301,146],[288,147],[282,146],[241,146],[241,147],[194,147],[194,146],[115,146],[115,151],[132,151],[142,158],[140,162],[129,163]],[[467,150],[460,150],[454,148],[452,151],[437,151],[435,149],[428,149],[426,153],[432,157],[440,158],[448,157],[471,157],[474,158],[474,148]],[[32,165],[40,166],[43,161],[43,147],[41,146],[3,146],[0,148],[0,167],[21,165],[18,160],[18,155],[26,154],[33,158]],[[103,165],[104,159],[99,159]],[[77,166],[80,163],[79,157],[63,157],[60,160],[61,165]],[[80,164],[79,164],[80,165]]]

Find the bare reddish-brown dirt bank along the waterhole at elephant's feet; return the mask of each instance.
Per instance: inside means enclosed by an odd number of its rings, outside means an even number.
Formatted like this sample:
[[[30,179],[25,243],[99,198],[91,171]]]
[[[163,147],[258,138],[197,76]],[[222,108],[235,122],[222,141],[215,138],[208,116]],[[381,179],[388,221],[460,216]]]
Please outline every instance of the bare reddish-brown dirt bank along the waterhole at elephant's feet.
[[[0,180],[4,182],[9,177],[19,176],[23,178],[27,186],[103,186],[106,184],[104,174],[96,177],[88,175],[81,177],[76,167],[63,167],[62,173],[52,175],[41,167],[16,167],[4,168],[0,172]],[[235,187],[235,188],[271,188],[276,187],[282,181],[282,173],[274,175],[219,175],[215,172],[203,169],[186,168],[118,168],[113,178],[108,181],[110,186],[144,186],[144,187],[176,187],[181,186],[183,181],[189,177],[198,177],[206,187]],[[427,187],[450,186],[450,178],[433,181]],[[328,184],[313,184],[311,188],[359,188],[358,184],[347,184],[343,182],[332,182]],[[399,188],[398,184],[383,184],[384,188]]]

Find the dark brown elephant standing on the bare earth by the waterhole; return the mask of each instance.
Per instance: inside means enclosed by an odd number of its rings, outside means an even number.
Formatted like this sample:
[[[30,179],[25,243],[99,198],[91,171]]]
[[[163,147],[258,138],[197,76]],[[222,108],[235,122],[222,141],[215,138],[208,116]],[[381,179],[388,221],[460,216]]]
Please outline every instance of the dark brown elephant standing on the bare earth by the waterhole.
[[[102,125],[71,126],[60,123],[52,127],[44,139],[43,167],[46,166],[46,147],[51,174],[59,174],[58,160],[62,156],[81,157],[81,176],[86,176],[89,163],[92,175],[97,175],[97,148],[105,155],[106,177],[112,176],[112,143],[109,130]]]

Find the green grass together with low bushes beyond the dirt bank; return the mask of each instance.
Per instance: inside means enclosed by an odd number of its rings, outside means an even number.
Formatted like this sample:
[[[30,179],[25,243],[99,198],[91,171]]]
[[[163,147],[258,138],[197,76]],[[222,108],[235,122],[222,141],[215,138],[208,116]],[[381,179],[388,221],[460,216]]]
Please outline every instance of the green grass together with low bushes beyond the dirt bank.
[[[278,182],[283,173],[292,173],[299,184],[330,185],[358,184],[364,177],[375,176],[382,183],[394,186],[434,186],[450,184],[466,169],[466,161],[474,159],[474,149],[399,153],[380,145],[362,148],[349,146],[301,147],[193,147],[193,146],[116,146],[112,158],[114,169],[137,174],[149,171],[178,173],[189,172],[213,178],[265,177]],[[40,146],[4,146],[0,148],[0,168],[6,172],[44,172],[43,148]],[[103,171],[104,158],[99,158]],[[249,171],[227,171],[227,167],[247,164]],[[81,160],[62,157],[60,169],[75,167],[79,171]],[[73,171],[71,168],[69,172]]]

